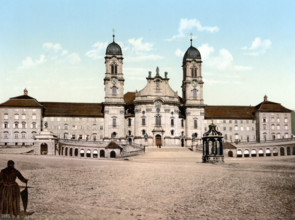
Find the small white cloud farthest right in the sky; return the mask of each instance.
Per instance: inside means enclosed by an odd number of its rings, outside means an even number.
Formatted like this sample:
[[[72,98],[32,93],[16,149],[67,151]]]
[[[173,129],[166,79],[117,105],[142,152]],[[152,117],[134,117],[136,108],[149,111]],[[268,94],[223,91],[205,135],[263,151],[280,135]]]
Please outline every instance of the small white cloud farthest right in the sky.
[[[266,40],[262,40],[259,37],[256,37],[251,46],[247,47],[244,46],[242,47],[242,50],[246,50],[249,51],[246,54],[249,56],[258,56],[258,55],[262,55],[266,52],[266,50],[271,48],[271,40],[266,39]]]

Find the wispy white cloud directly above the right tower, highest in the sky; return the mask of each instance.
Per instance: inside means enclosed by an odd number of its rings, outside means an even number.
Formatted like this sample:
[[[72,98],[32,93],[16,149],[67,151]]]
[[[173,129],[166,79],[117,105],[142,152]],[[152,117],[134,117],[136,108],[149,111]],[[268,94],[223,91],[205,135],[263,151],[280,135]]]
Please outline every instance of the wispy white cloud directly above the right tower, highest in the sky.
[[[189,32],[194,31],[208,31],[208,32],[217,32],[219,31],[219,28],[217,26],[203,26],[201,25],[201,22],[197,19],[187,19],[187,18],[181,18],[180,24],[178,27],[178,34],[172,36],[171,38],[167,39],[168,41],[175,40],[176,38],[182,38],[185,37]]]

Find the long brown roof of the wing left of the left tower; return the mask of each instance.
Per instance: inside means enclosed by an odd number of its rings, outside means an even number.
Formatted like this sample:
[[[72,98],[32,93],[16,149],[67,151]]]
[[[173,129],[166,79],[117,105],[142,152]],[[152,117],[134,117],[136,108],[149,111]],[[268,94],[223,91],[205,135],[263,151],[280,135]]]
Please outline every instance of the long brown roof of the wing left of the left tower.
[[[101,103],[41,102],[44,116],[103,117]]]

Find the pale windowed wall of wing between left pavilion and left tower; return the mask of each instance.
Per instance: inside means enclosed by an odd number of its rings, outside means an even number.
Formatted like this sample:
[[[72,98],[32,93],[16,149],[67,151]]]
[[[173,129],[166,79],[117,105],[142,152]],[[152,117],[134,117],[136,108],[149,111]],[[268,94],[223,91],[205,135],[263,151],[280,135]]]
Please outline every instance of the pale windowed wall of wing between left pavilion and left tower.
[[[44,117],[48,130],[60,139],[102,140],[104,119],[97,117]]]

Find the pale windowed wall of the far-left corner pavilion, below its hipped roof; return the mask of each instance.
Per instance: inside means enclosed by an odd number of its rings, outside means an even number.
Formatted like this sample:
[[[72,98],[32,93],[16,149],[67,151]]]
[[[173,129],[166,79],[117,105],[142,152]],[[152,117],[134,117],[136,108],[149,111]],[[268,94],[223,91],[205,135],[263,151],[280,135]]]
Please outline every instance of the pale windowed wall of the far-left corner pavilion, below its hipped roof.
[[[0,108],[0,145],[32,145],[41,120],[40,108]]]

